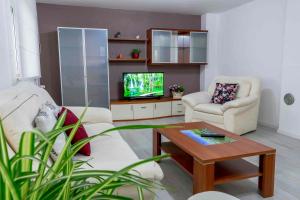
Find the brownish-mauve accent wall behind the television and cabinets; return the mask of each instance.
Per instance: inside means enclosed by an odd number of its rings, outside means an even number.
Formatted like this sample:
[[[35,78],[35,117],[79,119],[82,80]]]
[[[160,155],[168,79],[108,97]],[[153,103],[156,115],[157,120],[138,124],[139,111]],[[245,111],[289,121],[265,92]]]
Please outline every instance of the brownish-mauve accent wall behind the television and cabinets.
[[[142,11],[125,11],[103,8],[76,6],[61,6],[37,4],[39,32],[41,40],[41,83],[55,101],[60,104],[59,58],[56,29],[59,26],[106,28],[109,35],[120,31],[123,37],[146,37],[148,28],[188,28],[200,29],[201,17],[197,15],[167,14]],[[125,45],[125,46],[124,46]],[[134,47],[144,50],[141,44],[112,44],[110,54],[122,53],[125,56]],[[145,51],[145,50],[144,50]],[[144,55],[145,52],[142,53]],[[146,64],[110,64],[110,93],[111,99],[119,99],[121,94],[121,76],[123,72],[165,72],[166,95],[167,87],[180,83],[186,88],[186,93],[199,91],[200,67],[198,66],[147,66]]]

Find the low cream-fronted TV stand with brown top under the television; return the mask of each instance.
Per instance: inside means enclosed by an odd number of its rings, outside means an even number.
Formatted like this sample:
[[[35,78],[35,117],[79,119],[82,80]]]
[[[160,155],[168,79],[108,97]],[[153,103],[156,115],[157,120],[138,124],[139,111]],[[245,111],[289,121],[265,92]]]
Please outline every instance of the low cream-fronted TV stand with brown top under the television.
[[[181,100],[170,97],[112,100],[110,107],[114,121],[155,119],[184,115],[184,106]]]

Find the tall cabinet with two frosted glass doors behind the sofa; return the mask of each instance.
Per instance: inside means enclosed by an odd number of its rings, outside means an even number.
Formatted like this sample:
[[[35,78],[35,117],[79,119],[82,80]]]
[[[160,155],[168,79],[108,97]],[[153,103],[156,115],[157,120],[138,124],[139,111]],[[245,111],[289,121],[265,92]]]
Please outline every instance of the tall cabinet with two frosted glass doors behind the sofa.
[[[62,104],[109,108],[106,29],[58,27]]]

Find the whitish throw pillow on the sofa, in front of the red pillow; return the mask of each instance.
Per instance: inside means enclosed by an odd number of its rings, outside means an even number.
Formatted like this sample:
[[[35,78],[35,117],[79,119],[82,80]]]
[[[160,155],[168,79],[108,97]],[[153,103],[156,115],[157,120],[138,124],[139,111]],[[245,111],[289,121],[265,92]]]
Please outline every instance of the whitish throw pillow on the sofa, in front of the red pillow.
[[[55,124],[57,122],[57,119],[54,115],[54,112],[49,106],[46,104],[43,104],[42,107],[39,110],[38,115],[35,118],[35,124],[36,127],[43,133],[47,133],[51,131]],[[57,138],[56,141],[53,145],[53,150],[52,156],[54,159],[57,158],[57,156],[61,153],[63,147],[66,144],[66,137],[65,133],[61,133]]]

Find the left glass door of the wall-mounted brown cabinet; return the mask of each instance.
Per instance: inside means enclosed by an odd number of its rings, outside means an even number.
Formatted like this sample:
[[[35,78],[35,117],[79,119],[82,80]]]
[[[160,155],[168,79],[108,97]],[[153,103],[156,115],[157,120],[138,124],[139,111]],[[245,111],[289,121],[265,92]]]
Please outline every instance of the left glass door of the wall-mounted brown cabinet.
[[[152,32],[152,62],[171,62],[172,31],[153,30]]]

